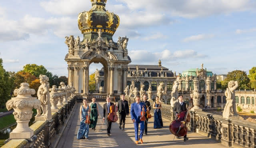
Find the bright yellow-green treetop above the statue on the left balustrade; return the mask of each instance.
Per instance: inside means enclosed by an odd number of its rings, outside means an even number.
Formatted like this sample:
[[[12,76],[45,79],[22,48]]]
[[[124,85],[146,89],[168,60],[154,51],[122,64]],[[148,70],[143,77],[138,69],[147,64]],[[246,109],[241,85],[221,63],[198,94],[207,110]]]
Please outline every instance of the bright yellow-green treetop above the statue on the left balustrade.
[[[33,74],[34,76],[36,76],[36,78],[39,78],[40,74],[47,73],[47,70],[44,66],[42,65],[38,66],[36,64],[26,64],[25,66],[23,66],[23,71]]]

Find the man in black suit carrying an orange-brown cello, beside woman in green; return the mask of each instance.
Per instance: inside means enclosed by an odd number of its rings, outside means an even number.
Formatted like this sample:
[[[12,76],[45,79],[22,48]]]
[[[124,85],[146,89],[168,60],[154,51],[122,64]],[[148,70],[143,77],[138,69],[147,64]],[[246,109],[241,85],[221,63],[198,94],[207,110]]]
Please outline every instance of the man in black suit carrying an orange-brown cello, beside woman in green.
[[[110,98],[106,98],[106,103],[103,106],[103,122],[106,119],[106,125],[107,125],[107,131],[108,136],[110,136],[110,130],[111,130],[111,124],[112,122],[108,120],[108,114],[110,113],[110,106],[112,106],[114,103],[110,102]]]

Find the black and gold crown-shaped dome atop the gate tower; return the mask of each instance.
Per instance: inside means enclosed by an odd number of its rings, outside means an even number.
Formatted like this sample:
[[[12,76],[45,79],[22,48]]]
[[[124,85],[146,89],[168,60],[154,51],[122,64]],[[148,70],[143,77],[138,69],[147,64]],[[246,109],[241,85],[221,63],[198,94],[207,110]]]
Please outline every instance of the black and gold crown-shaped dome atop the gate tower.
[[[78,15],[78,27],[82,34],[96,33],[101,29],[102,34],[112,37],[120,23],[118,15],[106,11],[107,0],[90,1],[92,2],[91,10]]]

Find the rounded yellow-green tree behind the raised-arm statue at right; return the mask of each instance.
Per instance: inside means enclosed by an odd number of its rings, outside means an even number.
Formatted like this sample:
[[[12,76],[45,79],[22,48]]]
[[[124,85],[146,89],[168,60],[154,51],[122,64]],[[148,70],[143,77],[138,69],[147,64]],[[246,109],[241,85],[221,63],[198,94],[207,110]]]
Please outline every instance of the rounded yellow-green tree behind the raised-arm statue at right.
[[[228,72],[227,78],[225,78],[221,83],[222,90],[225,90],[228,87],[228,82],[231,80],[238,81],[238,89],[250,89],[250,79],[245,71],[234,70],[232,72]]]

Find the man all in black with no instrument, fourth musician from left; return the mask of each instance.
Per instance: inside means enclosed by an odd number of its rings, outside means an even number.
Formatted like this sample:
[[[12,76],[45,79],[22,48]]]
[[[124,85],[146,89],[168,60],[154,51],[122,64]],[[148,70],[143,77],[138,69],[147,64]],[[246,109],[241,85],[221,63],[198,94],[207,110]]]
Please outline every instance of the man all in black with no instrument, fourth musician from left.
[[[121,94],[121,100],[118,101],[118,114],[119,114],[119,129],[124,130],[126,115],[129,115],[129,105],[126,100],[124,100],[124,94]],[[122,127],[121,127],[122,126]]]

